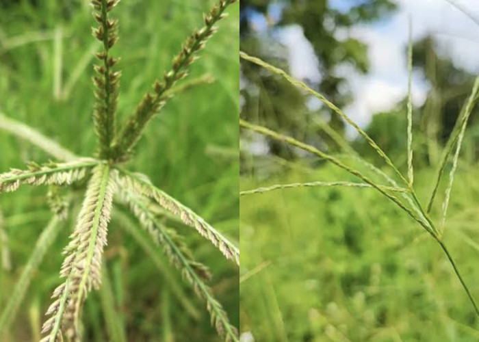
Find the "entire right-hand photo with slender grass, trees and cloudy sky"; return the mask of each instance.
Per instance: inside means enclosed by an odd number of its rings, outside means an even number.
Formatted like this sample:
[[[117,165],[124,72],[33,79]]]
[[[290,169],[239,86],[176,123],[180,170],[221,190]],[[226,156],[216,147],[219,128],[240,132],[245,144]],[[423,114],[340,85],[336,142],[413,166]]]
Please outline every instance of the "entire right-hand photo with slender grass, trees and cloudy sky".
[[[240,1],[240,341],[479,341],[479,7]]]

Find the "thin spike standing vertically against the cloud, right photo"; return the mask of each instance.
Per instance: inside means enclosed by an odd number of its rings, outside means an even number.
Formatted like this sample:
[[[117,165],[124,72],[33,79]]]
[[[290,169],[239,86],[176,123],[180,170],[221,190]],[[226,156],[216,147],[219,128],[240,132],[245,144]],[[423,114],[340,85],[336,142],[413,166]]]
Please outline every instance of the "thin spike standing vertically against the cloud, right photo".
[[[408,90],[407,90],[407,170],[409,187],[413,188],[414,170],[413,170],[413,24],[409,18],[409,42],[407,49],[408,64]]]

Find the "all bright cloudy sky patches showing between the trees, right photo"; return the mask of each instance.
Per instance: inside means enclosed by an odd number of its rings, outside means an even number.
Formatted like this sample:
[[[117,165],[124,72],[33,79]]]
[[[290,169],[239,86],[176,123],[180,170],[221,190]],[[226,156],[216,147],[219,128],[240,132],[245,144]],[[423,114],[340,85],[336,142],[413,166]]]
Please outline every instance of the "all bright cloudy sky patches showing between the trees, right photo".
[[[347,10],[351,0],[331,0],[341,10]],[[434,35],[440,51],[452,57],[457,66],[472,72],[479,71],[479,25],[458,10],[451,2],[467,10],[479,22],[479,0],[396,0],[399,10],[388,20],[373,25],[357,25],[339,31],[338,38],[359,38],[369,46],[371,73],[357,75],[350,68],[339,68],[337,73],[348,75],[354,92],[354,101],[345,110],[361,126],[365,126],[378,111],[391,109],[406,96],[407,68],[404,51],[408,40],[409,18],[413,22],[413,39]],[[278,19],[281,10],[270,11],[271,19]],[[255,14],[259,31],[268,30],[268,21]],[[257,25],[256,25],[257,23]],[[288,51],[290,72],[298,79],[320,79],[318,60],[312,52],[299,25],[276,32],[277,39]],[[413,75],[413,101],[424,102],[428,85],[421,75]]]

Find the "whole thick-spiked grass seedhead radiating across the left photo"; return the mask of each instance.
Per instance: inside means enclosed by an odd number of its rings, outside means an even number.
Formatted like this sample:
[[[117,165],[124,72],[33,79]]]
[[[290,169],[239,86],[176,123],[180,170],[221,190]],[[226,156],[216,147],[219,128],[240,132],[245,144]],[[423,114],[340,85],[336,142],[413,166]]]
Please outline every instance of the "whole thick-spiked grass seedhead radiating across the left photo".
[[[112,285],[102,267],[109,222],[115,220],[114,207],[120,208],[122,215],[125,215],[125,208],[129,209],[130,215],[138,220],[138,226],[144,229],[144,236],[149,238],[141,240],[144,246],[148,246],[149,254],[154,255],[152,246],[163,250],[166,259],[181,272],[198,298],[206,302],[211,325],[220,337],[225,341],[238,341],[237,329],[207,285],[211,278],[208,267],[194,259],[183,237],[175,229],[168,228],[158,212],[169,213],[193,228],[218,248],[226,259],[237,265],[239,249],[200,215],[155,186],[148,176],[127,170],[127,163],[134,159],[133,149],[152,119],[174,94],[198,83],[198,80],[193,80],[177,86],[177,82],[187,76],[190,65],[198,59],[209,38],[216,33],[216,24],[226,16],[226,9],[235,0],[220,0],[213,5],[203,17],[203,27],[187,37],[180,52],[173,57],[170,70],[161,79],[153,81],[151,91],[144,94],[126,120],[118,120],[121,71],[118,68],[119,58],[112,51],[118,40],[118,20],[112,13],[118,3],[119,0],[92,0],[90,3],[96,21],[92,34],[101,47],[101,51],[96,53],[98,63],[94,66],[96,75],[92,79],[95,98],[92,118],[97,140],[96,153],[92,157],[79,157],[27,124],[0,113],[0,129],[27,140],[55,159],[49,163],[31,162],[23,170],[15,168],[0,174],[1,196],[15,192],[21,185],[47,185],[47,202],[53,211],[53,218],[38,237],[12,295],[0,310],[0,337],[8,332],[34,272],[46,257],[55,237],[65,228],[70,208],[75,207],[75,194],[86,188],[70,242],[64,248],[61,282],[53,290],[40,341],[84,340],[83,306],[90,291],[101,289],[102,282],[105,282],[105,288],[100,292],[110,338],[112,341],[125,341],[125,334],[118,330],[118,319],[114,317],[117,309],[112,303]],[[200,79],[199,83],[208,79]],[[74,191],[64,195],[63,188]],[[121,222],[128,224],[124,219]],[[135,229],[136,225],[127,228],[131,235],[142,239],[142,233]],[[1,223],[0,238],[1,241],[5,239]],[[7,250],[3,246],[2,253],[2,262],[7,263],[4,257]]]

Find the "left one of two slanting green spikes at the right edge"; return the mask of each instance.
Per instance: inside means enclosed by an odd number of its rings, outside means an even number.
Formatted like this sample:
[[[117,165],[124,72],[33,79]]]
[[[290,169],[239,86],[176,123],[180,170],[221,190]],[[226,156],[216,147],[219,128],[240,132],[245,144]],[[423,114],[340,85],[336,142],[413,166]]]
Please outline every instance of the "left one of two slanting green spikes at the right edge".
[[[459,135],[461,134],[461,129],[462,127],[466,124],[467,121],[469,120],[469,116],[471,115],[471,111],[474,108],[474,105],[476,104],[478,100],[478,94],[479,94],[479,76],[476,77],[476,80],[474,81],[474,86],[472,87],[471,94],[469,94],[469,97],[467,98],[467,102],[464,108],[463,115],[459,115],[456,125],[454,129],[452,130],[451,136],[448,140],[448,143],[446,144],[445,148],[445,153],[443,154],[443,157],[441,159],[441,164],[439,166],[439,169],[437,170],[437,175],[435,179],[435,184],[434,188],[432,189],[431,196],[429,198],[428,202],[428,207],[426,213],[430,213],[432,210],[432,205],[434,204],[434,200],[437,194],[437,189],[439,189],[439,183],[441,183],[441,177],[443,175],[443,172],[445,170],[445,164],[448,162],[449,156],[452,153],[452,150],[454,149],[454,145],[456,144]]]

